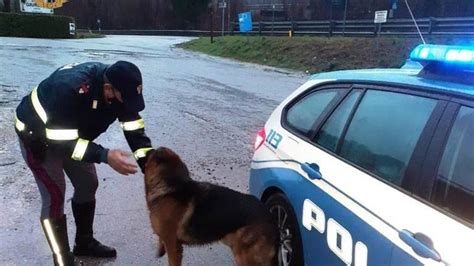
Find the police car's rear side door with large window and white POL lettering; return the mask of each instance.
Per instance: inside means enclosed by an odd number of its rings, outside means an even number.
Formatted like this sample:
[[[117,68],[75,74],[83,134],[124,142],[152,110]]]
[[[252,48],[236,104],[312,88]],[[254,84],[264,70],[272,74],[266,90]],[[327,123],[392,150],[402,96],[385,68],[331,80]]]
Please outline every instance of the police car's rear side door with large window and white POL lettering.
[[[400,203],[411,199],[404,179],[446,103],[369,87],[353,87],[310,139],[288,120],[291,104],[283,115],[289,135],[280,156],[305,177],[293,205],[308,265],[389,265],[393,252],[405,265],[429,262],[400,237],[412,215]]]

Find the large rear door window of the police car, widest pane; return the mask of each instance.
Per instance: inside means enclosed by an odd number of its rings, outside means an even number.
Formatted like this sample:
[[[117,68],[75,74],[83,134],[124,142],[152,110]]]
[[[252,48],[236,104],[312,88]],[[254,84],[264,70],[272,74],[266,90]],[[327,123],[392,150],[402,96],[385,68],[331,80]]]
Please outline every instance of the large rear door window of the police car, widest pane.
[[[414,95],[367,91],[349,125],[340,155],[400,186],[436,103]]]

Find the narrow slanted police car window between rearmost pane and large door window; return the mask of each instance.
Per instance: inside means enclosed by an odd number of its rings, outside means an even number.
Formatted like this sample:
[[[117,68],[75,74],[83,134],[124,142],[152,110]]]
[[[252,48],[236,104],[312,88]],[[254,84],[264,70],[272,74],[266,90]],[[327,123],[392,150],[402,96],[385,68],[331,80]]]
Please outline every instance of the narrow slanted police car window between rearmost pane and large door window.
[[[349,96],[344,99],[342,104],[337,107],[336,111],[334,111],[316,135],[316,143],[330,151],[336,151],[337,143],[347,123],[347,119],[361,93],[361,90],[352,91]]]

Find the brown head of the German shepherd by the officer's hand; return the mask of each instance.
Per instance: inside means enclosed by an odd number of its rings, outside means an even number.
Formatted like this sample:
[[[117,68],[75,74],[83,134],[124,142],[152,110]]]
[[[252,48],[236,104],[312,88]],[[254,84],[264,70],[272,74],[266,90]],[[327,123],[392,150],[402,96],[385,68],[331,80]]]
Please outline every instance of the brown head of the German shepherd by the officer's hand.
[[[171,149],[160,147],[150,152],[145,166],[145,185],[155,187],[178,184],[189,179],[189,171],[181,158]]]

